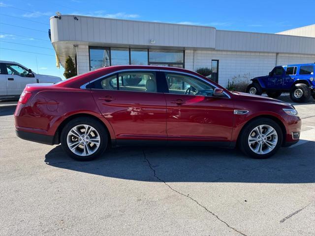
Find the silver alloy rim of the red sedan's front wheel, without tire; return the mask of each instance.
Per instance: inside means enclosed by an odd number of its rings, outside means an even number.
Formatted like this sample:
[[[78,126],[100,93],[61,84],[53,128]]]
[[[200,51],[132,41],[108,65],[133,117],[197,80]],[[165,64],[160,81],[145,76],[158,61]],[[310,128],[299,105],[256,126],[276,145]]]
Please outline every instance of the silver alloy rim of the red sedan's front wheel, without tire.
[[[271,152],[278,143],[277,131],[270,125],[258,125],[252,129],[248,137],[248,145],[256,154]]]

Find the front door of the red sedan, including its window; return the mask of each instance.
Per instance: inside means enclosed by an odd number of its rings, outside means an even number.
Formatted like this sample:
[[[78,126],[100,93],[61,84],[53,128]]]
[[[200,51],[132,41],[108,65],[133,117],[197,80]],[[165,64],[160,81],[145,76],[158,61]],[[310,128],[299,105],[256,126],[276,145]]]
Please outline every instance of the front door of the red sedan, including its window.
[[[229,141],[234,105],[228,95],[214,97],[215,86],[200,78],[165,72],[168,85],[166,132],[169,141]]]

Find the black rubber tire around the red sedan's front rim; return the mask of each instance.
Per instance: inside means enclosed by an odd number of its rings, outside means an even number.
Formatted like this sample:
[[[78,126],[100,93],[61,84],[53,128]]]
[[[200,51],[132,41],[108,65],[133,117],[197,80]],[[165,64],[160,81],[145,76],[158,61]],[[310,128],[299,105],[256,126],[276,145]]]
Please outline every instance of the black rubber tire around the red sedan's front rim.
[[[274,147],[274,149],[272,149],[270,152],[266,153],[266,154],[257,154],[254,151],[252,151],[252,149],[250,148],[248,139],[249,136],[252,132],[252,130],[257,127],[258,125],[269,125],[271,127],[273,127],[276,132],[277,132],[277,136],[278,136],[278,141],[276,146]],[[277,122],[275,122],[272,119],[269,118],[257,118],[257,119],[253,119],[252,121],[249,121],[245,127],[243,128],[240,136],[239,136],[239,140],[238,140],[238,145],[239,148],[242,150],[243,153],[245,153],[246,155],[254,158],[254,159],[266,159],[271,157],[272,155],[274,155],[278,149],[281,147],[283,142],[283,132],[281,127],[279,126],[279,124],[277,124]],[[266,146],[264,146],[266,147]]]

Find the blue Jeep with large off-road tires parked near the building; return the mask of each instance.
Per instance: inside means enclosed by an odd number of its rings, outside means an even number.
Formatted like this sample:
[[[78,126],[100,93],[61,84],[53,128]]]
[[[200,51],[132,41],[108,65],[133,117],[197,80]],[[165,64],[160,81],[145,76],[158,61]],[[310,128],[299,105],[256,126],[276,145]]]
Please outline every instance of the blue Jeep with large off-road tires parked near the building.
[[[279,97],[289,92],[292,101],[307,102],[310,96],[315,99],[315,63],[276,66],[268,76],[253,78],[247,92],[269,97]]]

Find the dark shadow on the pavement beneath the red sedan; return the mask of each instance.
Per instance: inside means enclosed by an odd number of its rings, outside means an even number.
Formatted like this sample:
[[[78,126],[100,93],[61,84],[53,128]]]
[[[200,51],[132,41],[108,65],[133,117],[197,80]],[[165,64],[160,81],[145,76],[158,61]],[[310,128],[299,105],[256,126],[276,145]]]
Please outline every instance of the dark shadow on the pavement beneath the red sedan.
[[[138,181],[166,182],[315,182],[315,142],[281,148],[269,159],[256,160],[237,149],[204,147],[120,147],[100,158],[78,162],[61,146],[45,156],[46,164],[88,174]]]

